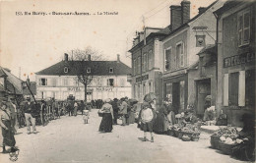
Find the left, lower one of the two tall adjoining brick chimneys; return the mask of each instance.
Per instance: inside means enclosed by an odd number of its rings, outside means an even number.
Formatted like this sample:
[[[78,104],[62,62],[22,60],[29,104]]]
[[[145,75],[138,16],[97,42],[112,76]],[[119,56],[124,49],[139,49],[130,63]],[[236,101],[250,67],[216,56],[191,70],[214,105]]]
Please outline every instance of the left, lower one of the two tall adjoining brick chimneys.
[[[169,8],[171,30],[174,30],[181,25],[181,6],[171,5]]]

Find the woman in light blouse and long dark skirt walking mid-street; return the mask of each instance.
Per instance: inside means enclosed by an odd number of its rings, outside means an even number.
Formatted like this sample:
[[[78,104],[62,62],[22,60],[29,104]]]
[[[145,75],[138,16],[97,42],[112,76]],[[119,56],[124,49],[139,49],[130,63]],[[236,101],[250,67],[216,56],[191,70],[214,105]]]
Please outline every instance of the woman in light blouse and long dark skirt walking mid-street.
[[[114,115],[113,115],[113,108],[112,108],[112,105],[110,104],[109,98],[105,100],[105,104],[102,105],[102,108],[98,112],[102,113],[102,120],[99,125],[98,131],[105,132],[105,133],[112,132]]]

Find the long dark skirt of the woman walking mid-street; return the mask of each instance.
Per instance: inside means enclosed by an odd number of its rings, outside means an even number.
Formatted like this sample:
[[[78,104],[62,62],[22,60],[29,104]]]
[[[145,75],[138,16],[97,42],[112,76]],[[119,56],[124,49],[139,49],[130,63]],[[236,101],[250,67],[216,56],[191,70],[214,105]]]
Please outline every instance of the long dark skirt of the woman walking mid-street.
[[[111,113],[103,113],[102,115],[102,120],[99,125],[99,132],[111,132],[113,127],[112,127],[112,115]]]

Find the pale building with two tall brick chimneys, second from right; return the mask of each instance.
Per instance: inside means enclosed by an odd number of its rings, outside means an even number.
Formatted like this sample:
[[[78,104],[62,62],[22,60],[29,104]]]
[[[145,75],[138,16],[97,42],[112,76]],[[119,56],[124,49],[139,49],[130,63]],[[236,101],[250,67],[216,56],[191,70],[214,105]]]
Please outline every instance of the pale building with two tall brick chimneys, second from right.
[[[197,81],[189,77],[188,70],[199,62],[197,54],[207,44],[215,44],[217,20],[213,12],[223,4],[216,1],[207,8],[199,8],[199,14],[192,19],[189,1],[170,6],[171,32],[162,39],[162,93],[172,100],[176,113],[184,111],[187,105],[200,107],[196,102]],[[210,86],[208,91],[214,90]]]

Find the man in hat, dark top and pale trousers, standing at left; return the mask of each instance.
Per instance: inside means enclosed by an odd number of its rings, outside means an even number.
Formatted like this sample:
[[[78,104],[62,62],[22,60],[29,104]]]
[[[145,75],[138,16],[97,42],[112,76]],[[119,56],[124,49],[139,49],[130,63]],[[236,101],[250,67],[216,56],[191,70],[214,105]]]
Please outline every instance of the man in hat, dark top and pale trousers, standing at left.
[[[35,118],[32,117],[32,112],[35,110],[34,104],[31,102],[31,97],[27,97],[27,102],[24,105],[25,119],[28,128],[28,135],[31,134],[31,123],[32,123],[32,133],[36,134],[35,129]]]

